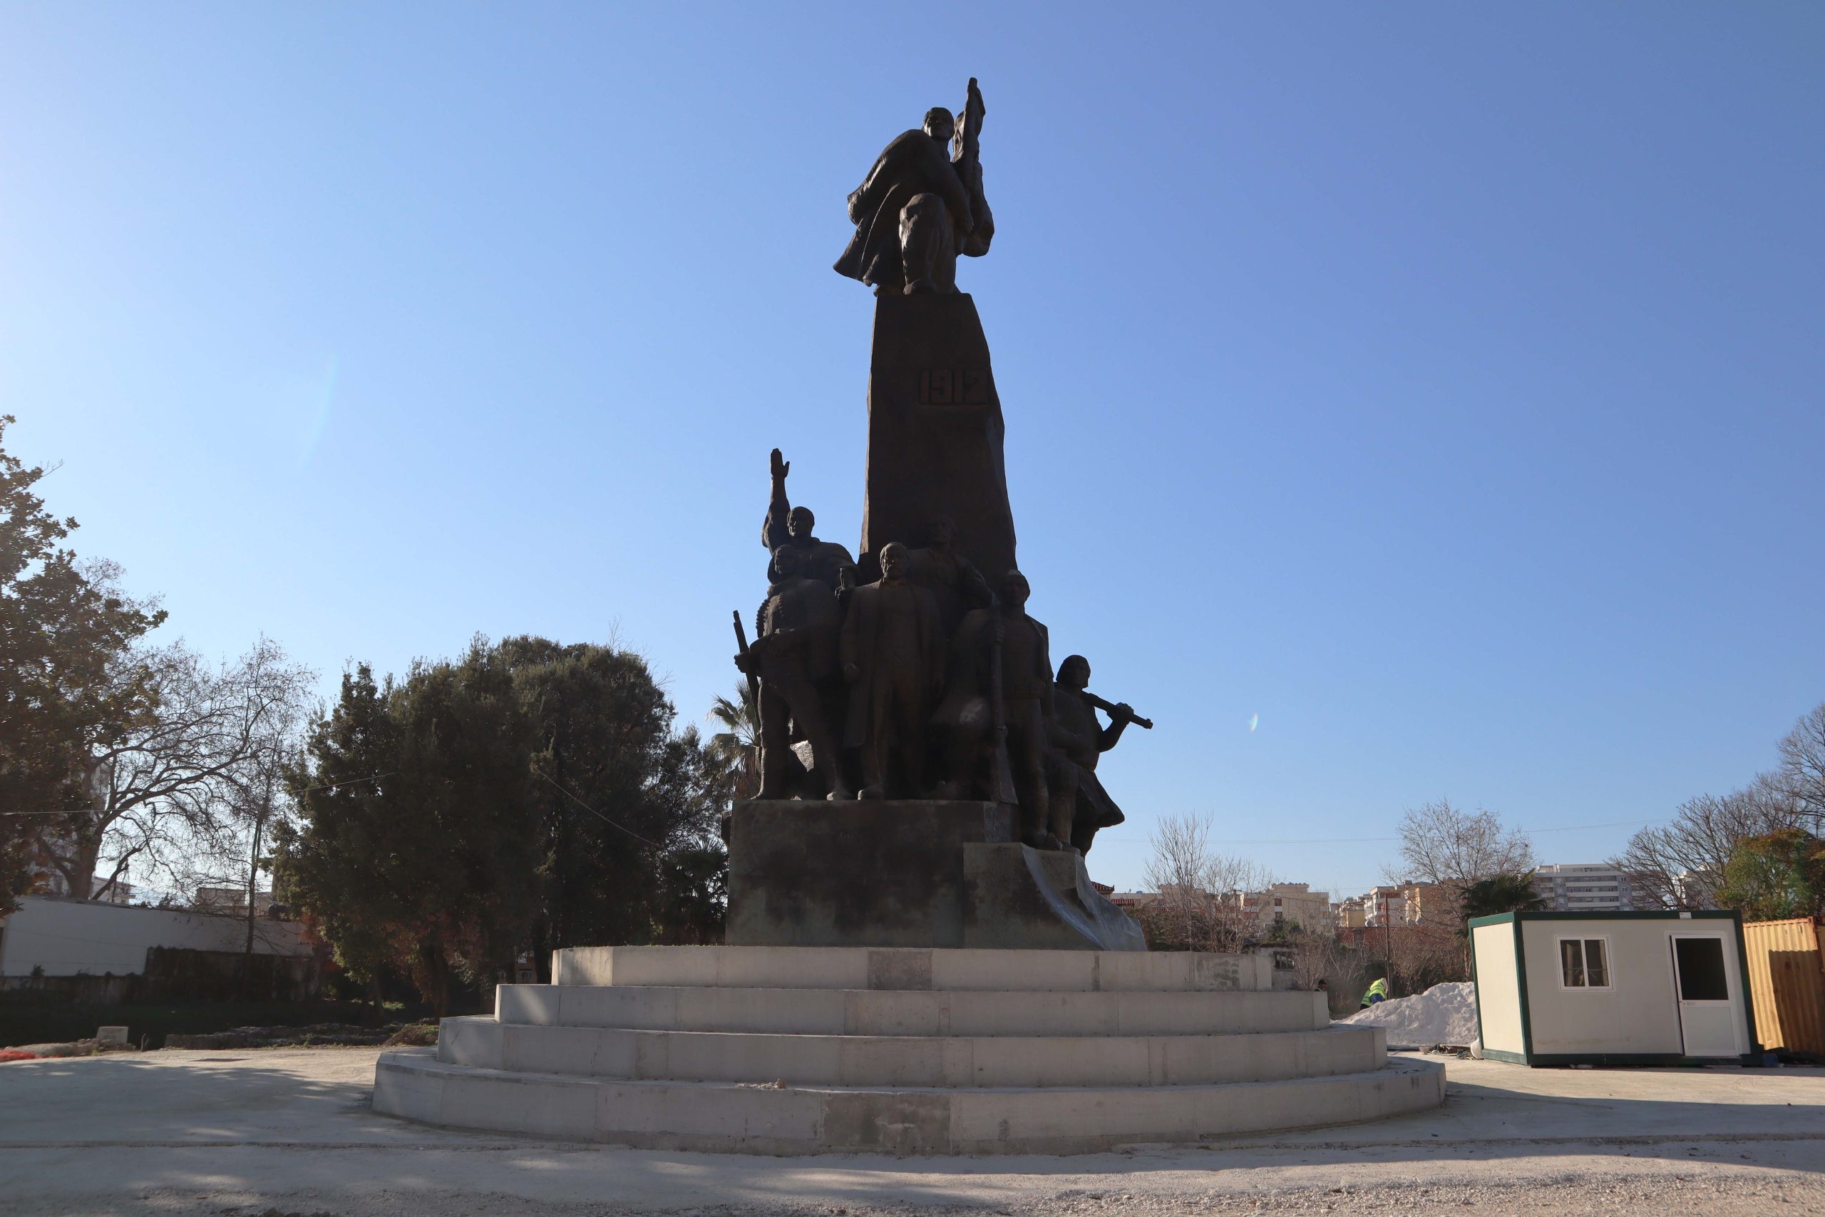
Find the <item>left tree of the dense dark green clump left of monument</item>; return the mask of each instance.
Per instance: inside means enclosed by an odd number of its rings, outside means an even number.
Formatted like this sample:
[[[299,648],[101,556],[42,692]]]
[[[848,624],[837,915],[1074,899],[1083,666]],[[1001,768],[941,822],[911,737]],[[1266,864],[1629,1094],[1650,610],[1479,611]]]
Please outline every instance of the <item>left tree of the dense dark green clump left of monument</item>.
[[[480,642],[402,684],[343,677],[312,765],[288,777],[303,828],[277,865],[352,976],[391,965],[442,1014],[458,980],[513,967],[537,903],[531,739],[511,670]]]

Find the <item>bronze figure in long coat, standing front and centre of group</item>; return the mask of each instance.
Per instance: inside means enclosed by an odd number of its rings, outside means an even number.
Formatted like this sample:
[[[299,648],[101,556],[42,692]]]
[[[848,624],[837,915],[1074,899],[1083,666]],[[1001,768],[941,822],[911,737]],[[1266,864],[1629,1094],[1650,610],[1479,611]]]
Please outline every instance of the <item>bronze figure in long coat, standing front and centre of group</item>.
[[[938,602],[907,582],[907,547],[881,546],[880,582],[849,595],[843,619],[849,692],[845,743],[861,748],[861,797],[925,794],[925,719],[944,688]]]

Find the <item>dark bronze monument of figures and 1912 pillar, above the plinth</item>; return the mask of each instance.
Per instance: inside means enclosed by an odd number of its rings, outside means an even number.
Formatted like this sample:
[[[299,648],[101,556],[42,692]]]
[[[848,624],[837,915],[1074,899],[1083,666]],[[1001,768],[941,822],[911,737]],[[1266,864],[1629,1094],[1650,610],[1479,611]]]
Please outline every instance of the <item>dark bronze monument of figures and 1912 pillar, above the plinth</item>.
[[[1097,757],[1130,723],[1152,723],[1090,693],[1082,655],[1053,671],[1049,633],[1027,615],[1031,589],[1011,564],[1000,405],[980,321],[956,292],[956,259],[987,254],[995,235],[978,155],[984,113],[971,80],[960,115],[933,108],[922,128],[887,144],[849,195],[856,232],[836,263],[883,297],[874,376],[885,376],[883,345],[918,350],[931,365],[894,365],[918,378],[916,392],[902,394],[911,405],[871,383],[871,427],[885,447],[905,447],[909,434],[923,445],[914,467],[878,469],[871,438],[876,520],[905,527],[909,513],[881,504],[909,502],[954,500],[971,515],[931,511],[922,529],[905,529],[922,535],[881,544],[880,524],[869,538],[865,505],[863,546],[876,547],[858,564],[788,502],[790,463],[774,449],[761,531],[766,598],[752,646],[737,613],[735,664],[759,702],[761,799],[1007,803],[1026,845],[1088,852],[1099,830],[1122,821],[1097,781]],[[953,297],[965,310],[880,312],[907,296]],[[960,535],[982,538],[1006,569],[978,569]]]

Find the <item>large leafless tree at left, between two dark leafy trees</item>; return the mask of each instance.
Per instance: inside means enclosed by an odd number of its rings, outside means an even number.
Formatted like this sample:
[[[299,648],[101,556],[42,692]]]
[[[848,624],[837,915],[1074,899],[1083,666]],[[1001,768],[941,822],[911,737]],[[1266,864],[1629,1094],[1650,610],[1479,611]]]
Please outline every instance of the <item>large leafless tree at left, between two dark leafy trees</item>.
[[[46,854],[68,890],[89,896],[104,850],[104,896],[128,867],[168,878],[235,839],[235,805],[250,766],[296,732],[314,673],[261,639],[246,655],[210,666],[182,642],[135,651],[115,679],[144,682],[153,713],[97,739],[84,765],[88,810],[64,817]]]

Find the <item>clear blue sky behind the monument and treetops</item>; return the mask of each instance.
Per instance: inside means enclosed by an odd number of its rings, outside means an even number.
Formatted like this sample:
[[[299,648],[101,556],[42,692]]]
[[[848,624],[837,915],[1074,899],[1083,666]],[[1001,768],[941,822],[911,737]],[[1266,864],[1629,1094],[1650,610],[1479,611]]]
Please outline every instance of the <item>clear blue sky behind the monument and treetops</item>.
[[[856,542],[843,197],[976,75],[1031,608],[1159,721],[1093,869],[1206,810],[1361,890],[1405,806],[1659,819],[1825,699],[1821,64],[1805,4],[5,4],[0,409],[170,637],[619,637],[695,719],[770,447]]]

